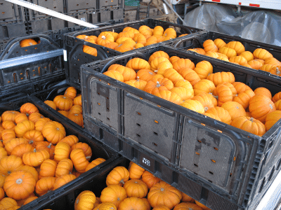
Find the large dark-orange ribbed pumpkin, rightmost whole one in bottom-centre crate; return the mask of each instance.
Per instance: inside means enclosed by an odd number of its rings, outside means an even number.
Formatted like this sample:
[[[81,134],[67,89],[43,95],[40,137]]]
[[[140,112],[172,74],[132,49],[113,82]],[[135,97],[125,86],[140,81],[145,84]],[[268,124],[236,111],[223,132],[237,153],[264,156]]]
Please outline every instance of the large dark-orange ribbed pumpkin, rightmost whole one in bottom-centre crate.
[[[181,191],[164,181],[156,183],[150,188],[150,192],[148,193],[148,202],[150,202],[153,208],[158,205],[165,205],[169,209],[173,209],[176,204],[181,202],[181,198]]]

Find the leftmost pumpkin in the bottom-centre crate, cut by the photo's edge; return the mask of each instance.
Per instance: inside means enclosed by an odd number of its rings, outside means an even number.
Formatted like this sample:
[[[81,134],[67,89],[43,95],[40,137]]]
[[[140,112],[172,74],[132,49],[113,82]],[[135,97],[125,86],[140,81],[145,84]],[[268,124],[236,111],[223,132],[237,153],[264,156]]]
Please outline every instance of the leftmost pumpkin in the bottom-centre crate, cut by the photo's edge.
[[[96,203],[96,195],[90,190],[81,192],[74,203],[74,210],[92,210]]]

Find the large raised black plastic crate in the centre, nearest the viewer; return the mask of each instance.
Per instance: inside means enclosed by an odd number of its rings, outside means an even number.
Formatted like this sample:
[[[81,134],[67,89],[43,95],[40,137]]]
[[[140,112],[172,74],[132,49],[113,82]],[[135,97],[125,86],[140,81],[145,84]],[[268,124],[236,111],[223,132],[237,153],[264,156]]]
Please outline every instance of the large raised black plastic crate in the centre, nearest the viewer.
[[[121,154],[128,152],[122,147],[126,143],[155,157],[146,158],[148,162],[166,162],[178,189],[211,209],[254,209],[280,171],[281,120],[258,137],[100,73],[110,64],[125,65],[131,57],[148,59],[157,50],[195,64],[207,60],[214,72],[231,71],[253,90],[266,87],[275,94],[281,89],[278,77],[160,45],[81,66],[84,127]],[[116,141],[106,142],[105,134],[117,136]],[[194,156],[197,140],[202,141],[199,162]]]

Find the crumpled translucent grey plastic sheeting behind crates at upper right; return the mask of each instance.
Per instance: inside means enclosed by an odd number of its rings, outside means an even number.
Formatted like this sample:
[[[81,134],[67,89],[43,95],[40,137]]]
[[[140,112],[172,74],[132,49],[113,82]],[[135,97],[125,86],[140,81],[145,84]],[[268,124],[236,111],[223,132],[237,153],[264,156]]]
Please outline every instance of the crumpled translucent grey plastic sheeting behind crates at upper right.
[[[203,4],[187,13],[184,20],[190,27],[281,46],[281,17],[270,11],[240,16],[229,6]]]

